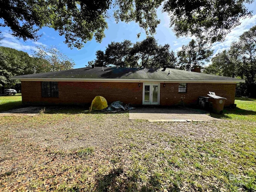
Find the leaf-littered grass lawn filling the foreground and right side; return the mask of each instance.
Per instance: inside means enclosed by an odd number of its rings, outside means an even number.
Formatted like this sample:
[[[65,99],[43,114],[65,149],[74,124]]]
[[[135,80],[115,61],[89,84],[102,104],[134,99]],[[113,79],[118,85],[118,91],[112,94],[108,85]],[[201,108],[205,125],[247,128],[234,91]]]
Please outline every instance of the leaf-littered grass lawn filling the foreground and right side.
[[[256,100],[236,104],[217,122],[80,108],[0,117],[0,191],[256,191]]]

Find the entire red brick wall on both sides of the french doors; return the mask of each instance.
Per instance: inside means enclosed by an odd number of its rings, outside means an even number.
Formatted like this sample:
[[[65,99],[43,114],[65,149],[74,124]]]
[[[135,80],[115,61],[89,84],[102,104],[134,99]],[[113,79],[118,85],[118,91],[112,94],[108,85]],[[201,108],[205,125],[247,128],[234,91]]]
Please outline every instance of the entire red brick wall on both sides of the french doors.
[[[126,104],[142,104],[143,83],[122,82],[58,82],[59,97],[42,97],[41,82],[22,81],[22,102],[36,104],[90,104],[95,96],[106,98],[108,103],[120,100]],[[160,85],[160,105],[175,105],[184,98],[185,104],[195,104],[198,96],[213,91],[227,98],[225,105],[234,103],[235,84],[187,84],[187,93],[178,92],[178,83]]]

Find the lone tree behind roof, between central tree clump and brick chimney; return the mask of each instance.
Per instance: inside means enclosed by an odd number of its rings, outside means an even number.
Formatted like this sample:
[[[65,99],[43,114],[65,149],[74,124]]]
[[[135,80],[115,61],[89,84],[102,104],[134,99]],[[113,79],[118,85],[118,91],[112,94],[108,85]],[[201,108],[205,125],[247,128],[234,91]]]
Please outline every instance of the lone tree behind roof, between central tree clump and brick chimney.
[[[182,50],[178,51],[178,68],[181,70],[191,70],[193,66],[202,66],[209,62],[213,50],[210,50],[207,42],[192,39],[188,45],[183,45]]]

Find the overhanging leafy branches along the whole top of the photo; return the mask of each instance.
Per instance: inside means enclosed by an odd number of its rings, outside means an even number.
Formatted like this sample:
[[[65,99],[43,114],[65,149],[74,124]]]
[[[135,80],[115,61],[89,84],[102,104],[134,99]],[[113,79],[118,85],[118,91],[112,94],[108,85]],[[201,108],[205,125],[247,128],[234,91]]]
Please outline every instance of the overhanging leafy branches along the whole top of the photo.
[[[0,26],[24,40],[39,38],[44,26],[54,28],[69,47],[104,38],[107,11],[114,7],[116,21],[135,21],[146,34],[154,34],[160,23],[156,10],[170,15],[170,26],[177,36],[196,35],[216,42],[223,40],[241,18],[251,16],[245,3],[252,0],[1,0]]]

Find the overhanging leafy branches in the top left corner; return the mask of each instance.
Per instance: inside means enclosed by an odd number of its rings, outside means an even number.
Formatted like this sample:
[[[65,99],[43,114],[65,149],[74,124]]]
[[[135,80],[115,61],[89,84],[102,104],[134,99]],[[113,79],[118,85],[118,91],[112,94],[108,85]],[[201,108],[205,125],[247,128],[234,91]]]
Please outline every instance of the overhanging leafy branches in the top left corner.
[[[69,47],[81,48],[83,43],[104,38],[107,28],[106,11],[110,0],[2,0],[0,26],[8,26],[12,35],[38,39],[38,30],[44,26],[54,28]]]

